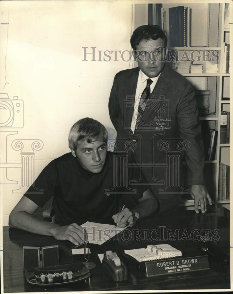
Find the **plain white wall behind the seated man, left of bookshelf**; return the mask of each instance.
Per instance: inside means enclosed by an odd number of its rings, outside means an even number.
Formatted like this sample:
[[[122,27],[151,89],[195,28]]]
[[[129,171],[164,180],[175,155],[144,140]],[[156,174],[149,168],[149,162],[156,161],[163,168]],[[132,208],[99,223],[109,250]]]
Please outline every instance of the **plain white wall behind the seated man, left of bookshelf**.
[[[96,50],[130,50],[132,4],[118,1],[1,1],[1,23],[8,21],[7,81],[5,60],[7,25],[1,25],[0,91],[24,101],[24,127],[1,128],[2,163],[11,163],[7,178],[18,184],[2,184],[3,225],[22,193],[20,151],[15,139],[40,139],[35,151],[35,177],[51,159],[69,152],[68,131],[78,119],[89,116],[112,126],[108,98],[114,75],[129,62],[83,60],[82,47]],[[90,48],[88,51],[90,52]],[[90,57],[87,57],[90,60]],[[98,56],[97,56],[98,59]],[[4,110],[1,110],[3,113]],[[18,131],[7,139],[6,132]],[[7,148],[7,159],[5,152]],[[4,162],[5,161],[5,162]],[[7,162],[6,162],[7,161]],[[1,167],[1,166],[0,166]],[[6,168],[0,168],[4,183]]]

